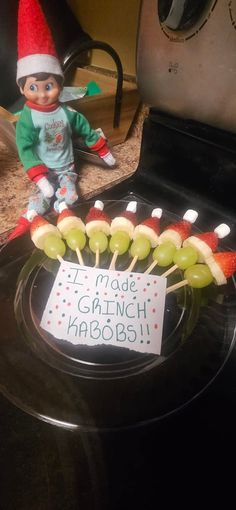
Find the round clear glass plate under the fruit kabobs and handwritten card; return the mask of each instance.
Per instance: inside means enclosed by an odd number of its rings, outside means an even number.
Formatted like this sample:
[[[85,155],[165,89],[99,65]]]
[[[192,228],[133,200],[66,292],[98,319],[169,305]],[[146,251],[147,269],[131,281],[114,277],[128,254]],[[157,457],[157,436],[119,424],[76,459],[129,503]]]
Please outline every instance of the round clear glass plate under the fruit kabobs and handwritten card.
[[[82,203],[75,212],[84,218],[93,203]],[[114,217],[126,205],[105,201],[105,211]],[[152,209],[139,202],[138,221]],[[163,211],[161,224],[179,219]],[[86,265],[93,266],[88,247],[83,255]],[[64,258],[76,262],[69,250]],[[106,252],[101,267],[108,267],[110,259]],[[150,260],[151,255],[135,270],[143,272]],[[120,257],[117,268],[127,263],[128,254]],[[162,351],[154,356],[104,345],[74,346],[40,328],[58,265],[33,249],[28,236],[1,252],[0,384],[21,409],[71,429],[134,427],[186,405],[223,367],[234,344],[234,279],[221,287],[184,287],[167,295]],[[181,278],[176,271],[168,285]]]

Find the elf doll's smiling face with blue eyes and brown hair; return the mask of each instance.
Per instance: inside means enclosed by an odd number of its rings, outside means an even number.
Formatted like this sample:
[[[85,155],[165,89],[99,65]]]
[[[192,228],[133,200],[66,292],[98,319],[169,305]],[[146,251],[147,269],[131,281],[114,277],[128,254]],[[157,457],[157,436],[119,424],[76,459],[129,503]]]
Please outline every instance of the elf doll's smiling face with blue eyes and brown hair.
[[[42,81],[36,80],[34,76],[28,76],[23,89],[20,90],[28,101],[43,106],[56,103],[61,87],[53,76]]]

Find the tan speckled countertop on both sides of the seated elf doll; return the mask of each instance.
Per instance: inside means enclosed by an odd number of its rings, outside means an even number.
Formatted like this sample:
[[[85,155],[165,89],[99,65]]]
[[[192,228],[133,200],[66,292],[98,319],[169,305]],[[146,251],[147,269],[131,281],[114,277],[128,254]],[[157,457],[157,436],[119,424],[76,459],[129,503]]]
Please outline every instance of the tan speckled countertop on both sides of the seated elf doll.
[[[112,152],[117,160],[114,169],[80,162],[79,190],[83,199],[92,198],[135,172],[139,161],[142,125],[147,111],[147,107],[140,107],[126,141],[113,147]],[[35,185],[25,175],[17,155],[9,151],[1,141],[0,183],[0,242],[3,243],[27,206]]]

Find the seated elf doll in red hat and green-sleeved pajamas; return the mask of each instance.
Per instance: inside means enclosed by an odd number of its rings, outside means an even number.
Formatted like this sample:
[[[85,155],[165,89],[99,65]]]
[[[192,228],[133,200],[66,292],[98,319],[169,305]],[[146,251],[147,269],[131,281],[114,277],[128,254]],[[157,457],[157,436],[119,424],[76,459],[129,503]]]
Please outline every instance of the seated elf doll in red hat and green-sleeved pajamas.
[[[37,0],[20,0],[18,11],[17,83],[26,103],[16,125],[16,143],[35,193],[9,240],[30,229],[35,215],[44,215],[54,200],[68,206],[78,199],[72,133],[84,139],[109,166],[114,166],[106,140],[87,119],[59,103],[63,72],[51,32]]]

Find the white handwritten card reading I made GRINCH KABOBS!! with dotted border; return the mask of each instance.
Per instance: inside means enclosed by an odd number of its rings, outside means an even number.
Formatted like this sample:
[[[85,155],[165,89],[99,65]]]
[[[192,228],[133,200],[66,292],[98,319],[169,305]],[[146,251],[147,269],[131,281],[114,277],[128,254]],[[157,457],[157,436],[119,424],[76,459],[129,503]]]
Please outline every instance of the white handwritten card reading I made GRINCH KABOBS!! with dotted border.
[[[166,279],[62,262],[40,326],[74,345],[160,354]]]

